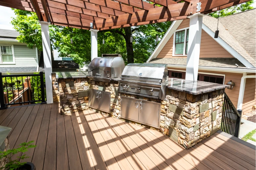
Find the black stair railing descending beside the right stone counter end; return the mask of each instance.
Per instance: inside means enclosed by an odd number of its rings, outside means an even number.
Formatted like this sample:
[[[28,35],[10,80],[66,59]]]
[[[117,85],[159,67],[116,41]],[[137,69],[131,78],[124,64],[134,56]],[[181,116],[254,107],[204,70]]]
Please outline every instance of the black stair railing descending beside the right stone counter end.
[[[242,110],[236,110],[228,95],[224,93],[221,130],[238,138]]]

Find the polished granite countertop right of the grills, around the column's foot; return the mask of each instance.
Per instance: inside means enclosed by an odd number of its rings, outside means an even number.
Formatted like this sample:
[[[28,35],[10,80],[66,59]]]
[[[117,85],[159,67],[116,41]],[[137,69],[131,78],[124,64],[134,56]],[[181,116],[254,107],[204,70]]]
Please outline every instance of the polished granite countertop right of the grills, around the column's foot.
[[[190,94],[202,94],[210,91],[226,88],[228,85],[221,85],[216,83],[202,82],[202,81],[188,81],[183,79],[169,78],[165,83],[166,88],[171,88],[178,91],[184,91]]]

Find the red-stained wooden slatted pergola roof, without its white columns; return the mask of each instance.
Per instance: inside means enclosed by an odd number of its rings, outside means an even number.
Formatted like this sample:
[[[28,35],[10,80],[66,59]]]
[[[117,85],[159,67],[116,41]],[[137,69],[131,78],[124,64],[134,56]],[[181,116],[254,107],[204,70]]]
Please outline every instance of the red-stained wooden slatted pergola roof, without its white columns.
[[[143,0],[0,0],[0,5],[35,12],[40,21],[54,25],[101,30],[184,19],[249,0],[148,1],[154,4]]]

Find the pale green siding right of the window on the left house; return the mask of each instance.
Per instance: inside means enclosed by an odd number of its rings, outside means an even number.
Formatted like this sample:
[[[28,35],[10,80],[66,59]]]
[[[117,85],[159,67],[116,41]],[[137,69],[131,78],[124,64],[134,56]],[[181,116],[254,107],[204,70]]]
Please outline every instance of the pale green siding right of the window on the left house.
[[[1,64],[0,67],[36,67],[36,48],[29,49],[26,45],[13,45],[15,64]]]

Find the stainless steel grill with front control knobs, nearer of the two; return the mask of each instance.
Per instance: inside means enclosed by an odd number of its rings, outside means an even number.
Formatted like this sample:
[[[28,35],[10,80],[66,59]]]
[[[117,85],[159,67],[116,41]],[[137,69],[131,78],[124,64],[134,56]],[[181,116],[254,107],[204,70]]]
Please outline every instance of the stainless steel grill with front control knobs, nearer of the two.
[[[119,81],[119,92],[165,100],[166,64],[128,64]]]

